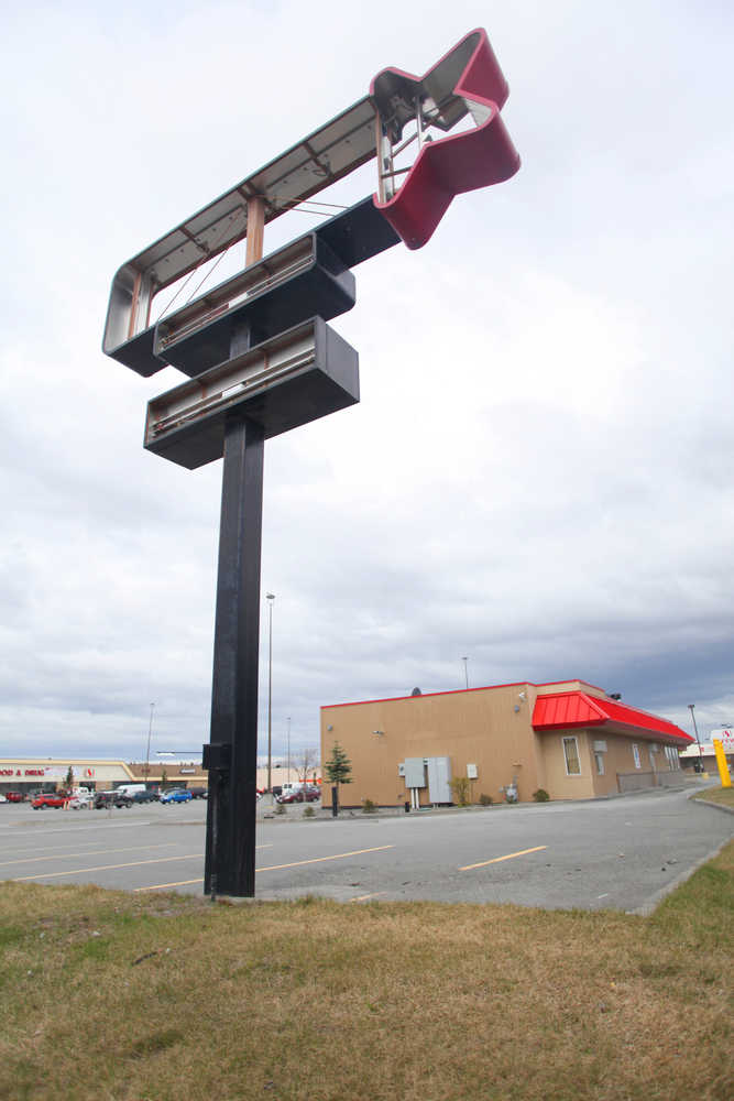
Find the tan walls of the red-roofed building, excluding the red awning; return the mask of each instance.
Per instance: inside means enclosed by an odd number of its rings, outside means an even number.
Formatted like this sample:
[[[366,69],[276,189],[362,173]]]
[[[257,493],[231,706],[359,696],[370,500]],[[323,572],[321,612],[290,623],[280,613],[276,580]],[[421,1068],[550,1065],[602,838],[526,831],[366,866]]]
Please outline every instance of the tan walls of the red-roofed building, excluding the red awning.
[[[321,761],[331,756],[339,742],[352,765],[353,782],[342,788],[342,806],[359,806],[363,799],[381,805],[401,805],[410,798],[398,765],[406,757],[448,756],[451,775],[465,776],[467,765],[475,764],[478,778],[471,782],[470,797],[502,798],[501,788],[516,780],[518,798],[527,802],[537,788],[551,799],[594,798],[618,792],[617,773],[644,774],[670,771],[664,741],[650,764],[650,740],[638,735],[610,733],[604,728],[557,730],[537,733],[532,716],[538,696],[558,691],[583,691],[604,698],[601,688],[584,682],[552,685],[515,684],[495,688],[439,693],[361,704],[335,705],[321,709]],[[379,733],[376,733],[379,731]],[[569,775],[563,738],[577,740],[581,772]],[[604,741],[604,773],[599,775],[593,744]],[[637,744],[640,767],[635,768],[633,744]],[[330,802],[325,781],[324,800]],[[428,787],[420,789],[420,805],[429,804]]]

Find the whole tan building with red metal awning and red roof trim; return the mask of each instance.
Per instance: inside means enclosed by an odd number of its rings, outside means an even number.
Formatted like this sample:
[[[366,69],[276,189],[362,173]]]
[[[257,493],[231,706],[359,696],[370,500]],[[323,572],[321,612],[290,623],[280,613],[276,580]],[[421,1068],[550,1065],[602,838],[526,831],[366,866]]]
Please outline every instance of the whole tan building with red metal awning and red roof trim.
[[[321,762],[335,743],[352,783],[342,806],[371,799],[414,807],[470,799],[606,796],[680,778],[679,749],[692,739],[667,719],[612,699],[583,680],[522,682],[321,708]],[[325,778],[325,799],[330,798]]]

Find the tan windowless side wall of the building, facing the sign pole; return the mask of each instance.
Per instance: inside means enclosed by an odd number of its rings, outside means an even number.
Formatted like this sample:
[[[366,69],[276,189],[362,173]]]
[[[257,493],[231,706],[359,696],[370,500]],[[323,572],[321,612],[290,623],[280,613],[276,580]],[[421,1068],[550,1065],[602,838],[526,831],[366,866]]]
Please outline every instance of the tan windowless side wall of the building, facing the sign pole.
[[[341,792],[343,806],[359,806],[365,798],[382,805],[409,799],[398,764],[420,756],[450,757],[453,777],[465,776],[467,765],[475,764],[474,800],[482,793],[500,799],[500,787],[514,777],[519,798],[529,799],[539,784],[532,713],[528,686],[523,684],[325,707],[321,761],[328,761],[337,741],[351,761],[353,783]],[[330,799],[326,781],[324,797]],[[426,787],[420,803],[428,802]]]

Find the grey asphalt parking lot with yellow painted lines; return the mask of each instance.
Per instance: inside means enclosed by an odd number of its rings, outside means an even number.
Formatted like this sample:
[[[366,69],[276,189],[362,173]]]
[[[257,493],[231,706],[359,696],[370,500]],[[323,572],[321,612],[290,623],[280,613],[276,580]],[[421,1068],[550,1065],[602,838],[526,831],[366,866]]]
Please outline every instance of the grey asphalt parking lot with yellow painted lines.
[[[690,791],[591,803],[261,819],[256,894],[645,912],[734,833]],[[202,889],[206,803],[0,806],[0,877],[146,893]]]

